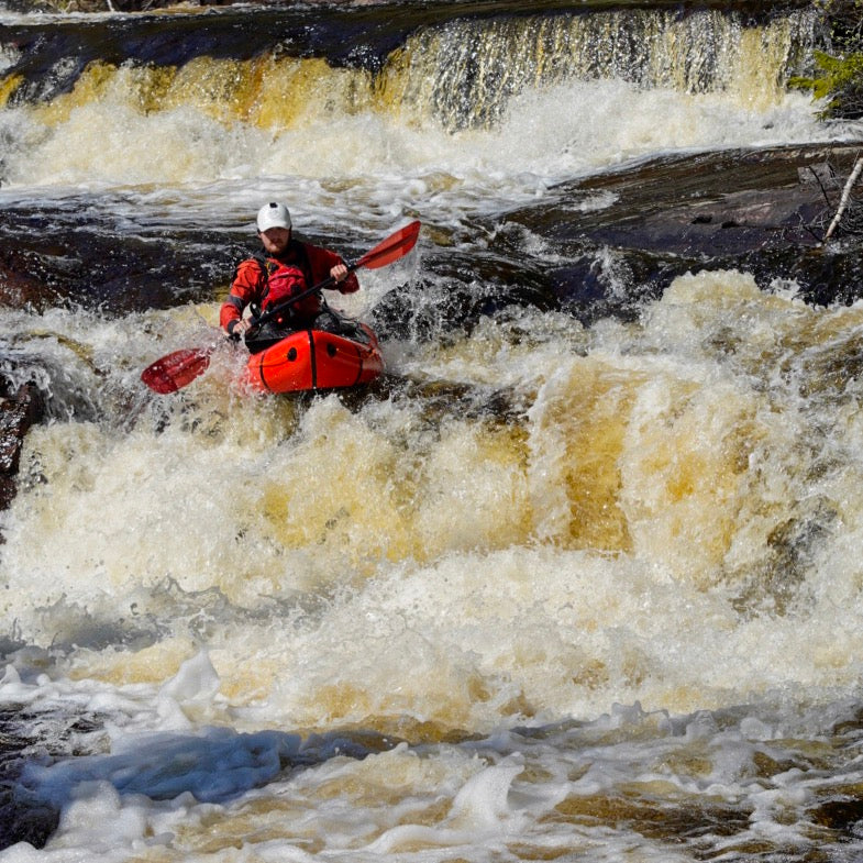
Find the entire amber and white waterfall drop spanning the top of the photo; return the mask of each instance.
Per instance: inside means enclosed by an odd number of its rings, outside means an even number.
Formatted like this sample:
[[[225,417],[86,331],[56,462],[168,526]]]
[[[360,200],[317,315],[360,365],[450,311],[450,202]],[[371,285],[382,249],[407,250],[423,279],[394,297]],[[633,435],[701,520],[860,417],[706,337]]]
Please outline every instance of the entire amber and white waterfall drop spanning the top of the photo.
[[[380,62],[374,51],[348,62],[332,46],[278,38],[277,25],[267,44],[261,18],[246,43],[229,41],[228,30],[178,41],[169,20],[162,27],[148,22],[146,40],[129,22],[73,23],[64,38],[56,36],[64,27],[54,24],[52,40],[34,34],[38,24],[7,27],[7,37],[0,30],[0,106],[56,102],[65,115],[120,86],[125,101],[146,113],[195,100],[223,122],[285,128],[310,111],[354,114],[374,107],[455,131],[499,122],[525,88],[572,80],[616,78],[645,89],[776,99],[792,75],[808,71],[817,37],[814,10],[766,21],[717,9],[637,9],[408,24]],[[167,44],[145,54],[142,44],[151,38]]]

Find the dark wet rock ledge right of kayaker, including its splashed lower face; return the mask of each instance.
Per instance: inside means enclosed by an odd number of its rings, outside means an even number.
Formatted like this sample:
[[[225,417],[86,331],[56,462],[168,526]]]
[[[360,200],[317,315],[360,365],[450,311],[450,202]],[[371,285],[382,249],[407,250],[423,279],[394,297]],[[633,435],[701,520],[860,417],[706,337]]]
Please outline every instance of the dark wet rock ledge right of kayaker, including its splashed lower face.
[[[632,319],[677,276],[704,269],[751,273],[763,289],[794,283],[815,305],[851,303],[863,296],[852,217],[863,184],[822,240],[858,155],[838,145],[675,155],[562,185],[551,200],[474,226],[488,237],[482,252],[439,229],[438,251],[423,256],[433,284],[391,291],[374,323],[385,338],[424,341],[507,306],[556,308],[586,325]]]

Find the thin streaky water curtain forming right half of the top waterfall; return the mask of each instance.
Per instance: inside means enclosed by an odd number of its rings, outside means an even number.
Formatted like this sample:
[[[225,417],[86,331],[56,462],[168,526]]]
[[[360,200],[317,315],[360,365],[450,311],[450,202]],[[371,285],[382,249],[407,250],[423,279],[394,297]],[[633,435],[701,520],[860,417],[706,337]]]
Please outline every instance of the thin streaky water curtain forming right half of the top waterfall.
[[[410,37],[383,75],[388,101],[450,129],[493,123],[525,87],[620,78],[688,93],[773,95],[807,68],[815,14],[765,25],[660,10],[457,21]]]

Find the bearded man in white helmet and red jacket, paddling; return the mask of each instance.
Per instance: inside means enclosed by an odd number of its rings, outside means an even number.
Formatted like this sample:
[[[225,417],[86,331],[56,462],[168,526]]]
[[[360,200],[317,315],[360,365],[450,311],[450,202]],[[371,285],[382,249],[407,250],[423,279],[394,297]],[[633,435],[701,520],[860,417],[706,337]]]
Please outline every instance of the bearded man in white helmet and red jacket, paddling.
[[[348,272],[335,252],[294,239],[290,213],[284,203],[272,201],[258,210],[257,235],[264,254],[240,264],[219,313],[219,323],[231,338],[244,336],[254,325],[250,319],[243,318],[247,306],[259,314],[328,277],[333,278],[334,289],[341,294],[359,290],[356,276]],[[262,341],[269,342],[295,330],[332,330],[338,327],[336,316],[327,308],[319,294],[312,294],[289,306],[284,314],[266,324],[268,332],[254,335],[256,340],[259,336]]]

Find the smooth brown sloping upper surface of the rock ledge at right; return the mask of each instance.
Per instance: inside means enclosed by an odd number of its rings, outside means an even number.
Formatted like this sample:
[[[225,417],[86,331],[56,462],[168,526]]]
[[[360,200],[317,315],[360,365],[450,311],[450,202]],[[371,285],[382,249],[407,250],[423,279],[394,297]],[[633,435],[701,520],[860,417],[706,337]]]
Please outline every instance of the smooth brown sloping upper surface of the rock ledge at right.
[[[659,159],[564,187],[616,200],[558,222],[550,234],[702,259],[811,247],[836,210],[851,156],[821,146]]]

